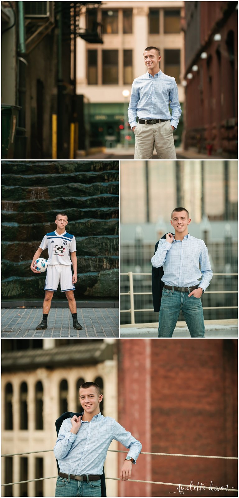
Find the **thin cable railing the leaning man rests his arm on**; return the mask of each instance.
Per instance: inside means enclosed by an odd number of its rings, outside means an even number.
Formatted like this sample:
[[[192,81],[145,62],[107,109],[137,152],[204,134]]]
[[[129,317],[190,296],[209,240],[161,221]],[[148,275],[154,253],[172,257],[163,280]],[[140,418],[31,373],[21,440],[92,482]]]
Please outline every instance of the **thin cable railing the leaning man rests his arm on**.
[[[1,457],[14,457],[18,455],[31,455],[33,453],[46,453],[53,450],[40,450],[40,451],[30,451],[30,452],[24,452],[24,453],[7,453],[4,455],[1,455]],[[108,450],[108,452],[112,453],[128,453],[126,450]],[[212,455],[187,455],[183,453],[153,453],[153,452],[145,452],[141,451],[141,455],[159,455],[159,456],[167,456],[167,457],[188,457],[188,458],[213,458],[213,459],[223,459],[223,460],[238,460],[238,457],[221,457],[221,456],[212,456]],[[27,481],[17,481],[15,483],[7,483],[7,484],[1,484],[1,487],[5,486],[13,486],[15,484],[26,484],[26,483],[33,483],[37,481],[45,481],[47,479],[57,479],[58,476],[52,476],[52,477],[41,477],[38,479],[29,479]],[[105,477],[106,480],[111,480],[111,481],[120,481],[120,478],[117,477]],[[144,484],[159,484],[161,486],[176,486],[176,488],[185,488],[185,489],[190,489],[191,487],[194,489],[197,487],[197,485],[192,485],[192,482],[190,484],[178,484],[178,483],[163,483],[159,481],[143,481],[139,479],[128,479],[128,482],[132,483],[144,483]],[[227,488],[227,487],[214,487],[214,486],[204,486],[203,489],[205,490],[211,490],[211,491],[232,491],[235,493],[238,493],[238,490],[235,488]],[[199,490],[200,490],[200,485],[199,485]]]

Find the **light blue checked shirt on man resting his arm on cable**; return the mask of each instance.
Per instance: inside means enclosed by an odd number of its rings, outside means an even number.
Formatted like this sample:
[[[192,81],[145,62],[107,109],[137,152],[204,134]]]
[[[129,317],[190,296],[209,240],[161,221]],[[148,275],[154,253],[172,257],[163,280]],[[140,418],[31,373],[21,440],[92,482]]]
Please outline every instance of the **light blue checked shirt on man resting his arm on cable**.
[[[136,462],[142,444],[111,417],[101,413],[90,422],[81,421],[77,434],[70,432],[71,418],[63,421],[54,447],[60,472],[82,476],[101,475],[107,450],[113,439],[129,448],[128,456]]]

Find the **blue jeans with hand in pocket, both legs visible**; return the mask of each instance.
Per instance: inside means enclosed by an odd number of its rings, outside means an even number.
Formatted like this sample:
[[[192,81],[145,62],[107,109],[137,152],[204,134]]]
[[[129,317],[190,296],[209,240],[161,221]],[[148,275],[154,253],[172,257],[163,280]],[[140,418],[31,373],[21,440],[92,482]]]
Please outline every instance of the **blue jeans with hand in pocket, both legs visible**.
[[[159,311],[159,337],[172,337],[177,319],[182,310],[191,337],[204,337],[203,308],[201,299],[190,291],[162,289],[162,299]]]

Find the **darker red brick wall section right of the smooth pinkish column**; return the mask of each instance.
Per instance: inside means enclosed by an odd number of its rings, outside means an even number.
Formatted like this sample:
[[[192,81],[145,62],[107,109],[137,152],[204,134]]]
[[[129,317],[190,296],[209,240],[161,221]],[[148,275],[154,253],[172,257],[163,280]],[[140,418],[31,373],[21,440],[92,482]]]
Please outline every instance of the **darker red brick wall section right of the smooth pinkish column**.
[[[161,341],[152,347],[152,451],[237,456],[237,345],[222,339],[165,339],[163,346]],[[154,457],[152,462],[153,481],[237,486],[235,461]],[[169,491],[175,490],[153,485],[152,496],[170,496]]]

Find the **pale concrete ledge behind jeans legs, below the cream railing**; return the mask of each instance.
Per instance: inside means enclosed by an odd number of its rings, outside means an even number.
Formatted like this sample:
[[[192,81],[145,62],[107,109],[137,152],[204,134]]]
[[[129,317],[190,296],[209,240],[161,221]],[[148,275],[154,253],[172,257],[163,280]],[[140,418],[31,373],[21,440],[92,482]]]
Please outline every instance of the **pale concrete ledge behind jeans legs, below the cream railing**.
[[[229,320],[205,320],[205,338],[230,338],[238,337],[238,321]],[[158,337],[158,323],[136,324],[135,326],[121,325],[120,337]],[[190,338],[190,332],[185,322],[177,322],[174,329],[173,338]]]

